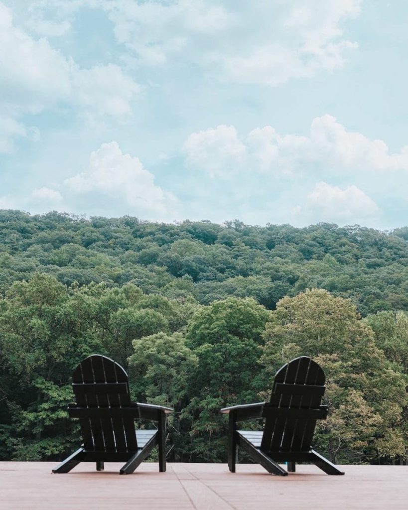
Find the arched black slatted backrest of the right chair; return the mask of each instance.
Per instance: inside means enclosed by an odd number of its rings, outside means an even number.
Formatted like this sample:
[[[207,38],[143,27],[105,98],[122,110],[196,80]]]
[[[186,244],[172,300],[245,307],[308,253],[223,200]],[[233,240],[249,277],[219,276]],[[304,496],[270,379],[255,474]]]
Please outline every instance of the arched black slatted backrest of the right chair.
[[[321,367],[306,356],[295,358],[276,372],[270,403],[264,406],[262,450],[310,450],[316,418],[326,413],[317,411],[325,390],[324,382]],[[282,411],[281,416],[279,411]]]

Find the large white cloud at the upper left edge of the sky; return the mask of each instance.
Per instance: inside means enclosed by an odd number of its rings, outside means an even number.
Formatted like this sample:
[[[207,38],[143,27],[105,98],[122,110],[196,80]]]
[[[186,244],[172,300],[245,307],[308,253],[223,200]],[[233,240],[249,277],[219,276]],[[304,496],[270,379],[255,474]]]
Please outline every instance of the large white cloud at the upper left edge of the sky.
[[[140,86],[117,65],[79,67],[54,49],[46,38],[35,39],[13,24],[10,9],[0,3],[0,150],[25,134],[20,118],[57,104],[79,107],[93,116],[122,116]]]

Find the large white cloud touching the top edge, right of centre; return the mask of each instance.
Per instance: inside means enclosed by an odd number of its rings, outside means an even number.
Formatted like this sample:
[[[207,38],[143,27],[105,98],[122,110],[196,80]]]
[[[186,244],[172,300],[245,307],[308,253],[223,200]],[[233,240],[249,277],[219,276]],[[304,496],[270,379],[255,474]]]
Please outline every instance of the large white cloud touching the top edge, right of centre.
[[[360,4],[360,0],[302,0],[285,7],[270,3],[264,12],[256,7],[263,37],[254,38],[235,54],[219,55],[225,77],[273,86],[341,67],[357,44],[342,37],[340,25],[359,15]]]

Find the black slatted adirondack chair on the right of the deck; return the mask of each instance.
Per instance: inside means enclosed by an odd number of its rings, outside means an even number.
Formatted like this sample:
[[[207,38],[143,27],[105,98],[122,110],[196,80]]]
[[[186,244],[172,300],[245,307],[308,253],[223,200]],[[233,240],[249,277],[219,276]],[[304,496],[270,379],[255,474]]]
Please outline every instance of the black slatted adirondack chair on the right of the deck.
[[[344,473],[317,453],[311,442],[317,419],[327,417],[320,405],[325,376],[306,356],[296,358],[276,372],[270,402],[234,405],[221,409],[229,415],[228,467],[235,472],[240,446],[269,473],[286,476],[296,463],[310,462],[329,475]],[[237,422],[265,418],[263,431],[237,430]],[[288,463],[288,471],[278,463]]]

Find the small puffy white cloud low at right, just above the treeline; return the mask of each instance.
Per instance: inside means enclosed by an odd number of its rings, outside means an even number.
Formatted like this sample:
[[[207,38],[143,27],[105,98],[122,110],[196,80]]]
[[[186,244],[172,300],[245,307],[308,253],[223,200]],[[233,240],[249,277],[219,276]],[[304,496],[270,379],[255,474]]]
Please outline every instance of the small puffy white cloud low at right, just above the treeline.
[[[376,203],[356,186],[342,190],[337,186],[320,182],[308,194],[303,206],[295,209],[301,221],[366,222],[380,215]]]

